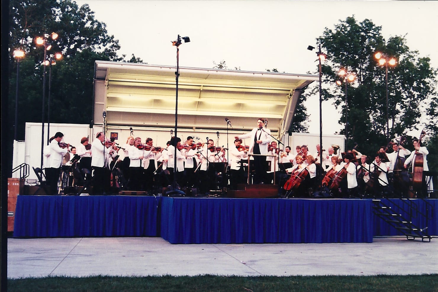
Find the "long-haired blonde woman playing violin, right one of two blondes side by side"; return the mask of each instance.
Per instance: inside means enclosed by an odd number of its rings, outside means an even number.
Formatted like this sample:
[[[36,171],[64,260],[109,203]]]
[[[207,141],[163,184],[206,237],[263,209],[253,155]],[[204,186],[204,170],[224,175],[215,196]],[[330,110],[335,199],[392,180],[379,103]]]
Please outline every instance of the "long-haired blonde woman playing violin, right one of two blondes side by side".
[[[134,138],[134,146],[128,149],[130,179],[128,190],[142,190],[143,164],[145,145],[141,144],[141,138]]]

